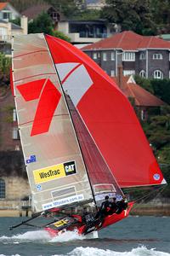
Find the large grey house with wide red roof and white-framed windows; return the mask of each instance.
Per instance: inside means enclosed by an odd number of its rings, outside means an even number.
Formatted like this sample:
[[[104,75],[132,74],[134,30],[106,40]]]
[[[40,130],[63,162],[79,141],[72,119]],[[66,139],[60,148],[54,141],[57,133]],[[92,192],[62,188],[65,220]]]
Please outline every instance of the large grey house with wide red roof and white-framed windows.
[[[143,78],[170,78],[170,42],[145,37],[131,31],[116,33],[82,48],[111,76],[117,75],[120,63],[123,74]]]

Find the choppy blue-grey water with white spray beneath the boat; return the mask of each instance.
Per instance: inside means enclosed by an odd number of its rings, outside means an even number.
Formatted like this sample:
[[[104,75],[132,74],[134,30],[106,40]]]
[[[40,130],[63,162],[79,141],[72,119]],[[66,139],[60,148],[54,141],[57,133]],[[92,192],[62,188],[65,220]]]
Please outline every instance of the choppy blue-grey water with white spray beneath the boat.
[[[21,218],[0,218],[0,256],[170,256],[170,217],[129,217],[98,239],[67,232],[51,239],[44,230],[8,226]]]

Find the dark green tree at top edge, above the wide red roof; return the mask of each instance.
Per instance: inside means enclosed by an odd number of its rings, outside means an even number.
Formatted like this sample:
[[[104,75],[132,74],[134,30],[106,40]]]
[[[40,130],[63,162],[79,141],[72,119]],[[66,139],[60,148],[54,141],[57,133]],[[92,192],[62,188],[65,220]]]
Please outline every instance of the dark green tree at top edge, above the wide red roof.
[[[111,23],[122,27],[122,31],[132,30],[139,34],[155,34],[149,0],[106,0],[102,16]]]

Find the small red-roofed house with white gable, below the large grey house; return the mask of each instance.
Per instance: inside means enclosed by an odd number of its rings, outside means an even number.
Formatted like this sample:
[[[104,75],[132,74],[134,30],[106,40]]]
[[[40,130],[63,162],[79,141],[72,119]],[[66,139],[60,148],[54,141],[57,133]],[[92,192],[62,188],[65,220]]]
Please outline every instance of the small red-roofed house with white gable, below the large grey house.
[[[160,108],[166,105],[161,99],[152,95],[148,90],[144,90],[139,84],[136,84],[133,75],[123,76],[121,65],[118,67],[118,75],[111,77],[111,79],[118,85],[123,94],[127,96],[141,120],[147,119],[150,108]]]

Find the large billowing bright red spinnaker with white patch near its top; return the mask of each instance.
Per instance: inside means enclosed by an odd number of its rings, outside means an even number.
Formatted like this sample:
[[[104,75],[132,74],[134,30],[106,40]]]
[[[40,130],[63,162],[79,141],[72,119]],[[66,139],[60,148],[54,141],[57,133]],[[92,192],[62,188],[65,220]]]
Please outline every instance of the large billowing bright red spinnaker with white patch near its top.
[[[80,49],[46,36],[63,82],[121,187],[165,183],[127,97]]]

